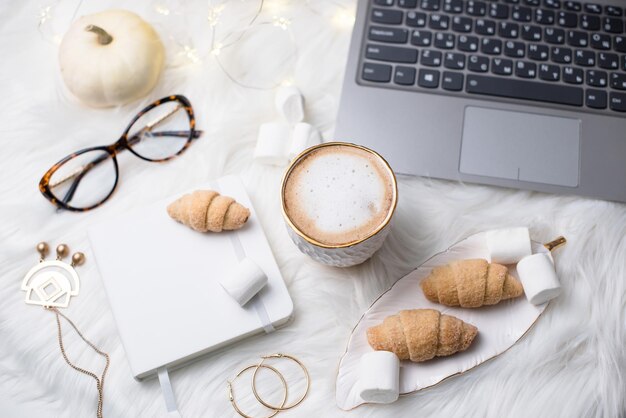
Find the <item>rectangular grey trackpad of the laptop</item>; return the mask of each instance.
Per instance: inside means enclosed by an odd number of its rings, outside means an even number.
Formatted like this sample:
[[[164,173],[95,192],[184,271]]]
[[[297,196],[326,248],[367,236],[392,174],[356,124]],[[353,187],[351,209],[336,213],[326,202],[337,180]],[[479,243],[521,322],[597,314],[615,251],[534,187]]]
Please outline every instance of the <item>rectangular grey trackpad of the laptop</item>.
[[[578,186],[580,120],[467,107],[460,171]]]

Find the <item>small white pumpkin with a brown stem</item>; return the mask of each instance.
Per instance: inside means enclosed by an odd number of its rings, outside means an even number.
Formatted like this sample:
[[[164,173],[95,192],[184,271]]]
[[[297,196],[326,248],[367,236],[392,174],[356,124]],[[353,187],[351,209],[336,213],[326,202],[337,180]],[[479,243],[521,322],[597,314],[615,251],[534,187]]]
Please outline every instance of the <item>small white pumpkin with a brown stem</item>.
[[[150,24],[126,10],[107,10],[72,24],[59,48],[59,64],[65,85],[81,102],[109,107],[148,94],[164,55]]]

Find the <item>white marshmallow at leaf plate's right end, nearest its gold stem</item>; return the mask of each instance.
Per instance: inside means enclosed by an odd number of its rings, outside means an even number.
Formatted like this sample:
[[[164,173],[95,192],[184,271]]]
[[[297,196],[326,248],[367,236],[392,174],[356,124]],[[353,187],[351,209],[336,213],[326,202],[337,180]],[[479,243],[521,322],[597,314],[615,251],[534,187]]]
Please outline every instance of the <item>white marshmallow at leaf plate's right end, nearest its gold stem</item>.
[[[541,305],[561,293],[559,278],[548,253],[533,254],[517,263],[526,299],[533,305]]]

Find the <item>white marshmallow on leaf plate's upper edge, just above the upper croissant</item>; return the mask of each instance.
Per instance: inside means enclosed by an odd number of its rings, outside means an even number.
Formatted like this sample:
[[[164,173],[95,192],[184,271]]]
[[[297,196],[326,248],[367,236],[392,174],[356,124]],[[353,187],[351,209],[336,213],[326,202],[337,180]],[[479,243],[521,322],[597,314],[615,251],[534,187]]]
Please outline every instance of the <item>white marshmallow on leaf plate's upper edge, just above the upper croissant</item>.
[[[487,248],[492,263],[513,264],[532,254],[528,228],[487,231]]]

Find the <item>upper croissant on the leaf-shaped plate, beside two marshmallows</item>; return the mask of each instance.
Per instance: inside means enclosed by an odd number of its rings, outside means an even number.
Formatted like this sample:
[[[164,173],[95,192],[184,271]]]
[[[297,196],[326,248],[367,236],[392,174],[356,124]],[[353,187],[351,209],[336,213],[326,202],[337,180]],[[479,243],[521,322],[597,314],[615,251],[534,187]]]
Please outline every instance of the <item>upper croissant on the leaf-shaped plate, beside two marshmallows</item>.
[[[429,301],[463,308],[495,305],[524,293],[522,284],[505,266],[482,259],[436,267],[420,286]]]

